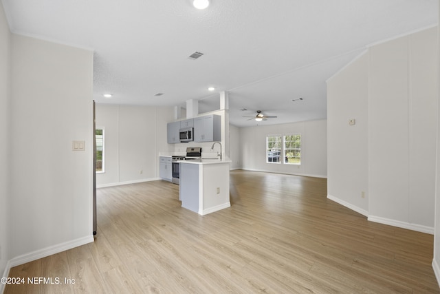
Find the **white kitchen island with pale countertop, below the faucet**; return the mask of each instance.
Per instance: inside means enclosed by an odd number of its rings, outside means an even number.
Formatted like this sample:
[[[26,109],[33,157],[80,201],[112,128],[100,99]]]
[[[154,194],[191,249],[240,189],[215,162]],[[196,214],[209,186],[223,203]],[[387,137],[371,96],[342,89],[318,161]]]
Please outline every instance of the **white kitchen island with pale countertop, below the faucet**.
[[[181,206],[201,216],[230,207],[230,162],[203,159],[181,161]]]

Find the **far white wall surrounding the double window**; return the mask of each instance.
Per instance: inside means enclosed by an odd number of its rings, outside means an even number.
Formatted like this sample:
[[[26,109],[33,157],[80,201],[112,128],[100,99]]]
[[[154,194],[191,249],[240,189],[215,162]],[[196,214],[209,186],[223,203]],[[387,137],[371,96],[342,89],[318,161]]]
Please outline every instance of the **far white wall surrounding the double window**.
[[[266,137],[276,134],[301,134],[301,165],[266,162]],[[240,145],[243,169],[327,177],[327,120],[243,127]]]

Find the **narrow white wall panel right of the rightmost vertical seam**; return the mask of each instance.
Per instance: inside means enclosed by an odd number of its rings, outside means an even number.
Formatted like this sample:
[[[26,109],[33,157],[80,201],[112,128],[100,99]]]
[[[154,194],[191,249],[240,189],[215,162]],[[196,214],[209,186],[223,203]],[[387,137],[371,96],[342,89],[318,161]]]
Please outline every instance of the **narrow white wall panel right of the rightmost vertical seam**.
[[[437,121],[437,27],[409,36],[409,165],[408,221],[434,227]],[[420,197],[419,194],[423,196]]]

